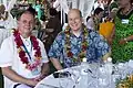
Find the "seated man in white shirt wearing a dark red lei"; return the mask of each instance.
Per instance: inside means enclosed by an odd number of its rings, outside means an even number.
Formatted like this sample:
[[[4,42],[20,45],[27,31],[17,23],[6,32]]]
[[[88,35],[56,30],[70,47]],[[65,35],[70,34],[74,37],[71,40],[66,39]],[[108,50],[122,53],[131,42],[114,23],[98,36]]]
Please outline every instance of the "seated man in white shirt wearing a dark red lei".
[[[18,29],[6,38],[0,50],[4,88],[33,88],[48,75],[48,56],[43,43],[32,35],[34,12],[25,10]]]

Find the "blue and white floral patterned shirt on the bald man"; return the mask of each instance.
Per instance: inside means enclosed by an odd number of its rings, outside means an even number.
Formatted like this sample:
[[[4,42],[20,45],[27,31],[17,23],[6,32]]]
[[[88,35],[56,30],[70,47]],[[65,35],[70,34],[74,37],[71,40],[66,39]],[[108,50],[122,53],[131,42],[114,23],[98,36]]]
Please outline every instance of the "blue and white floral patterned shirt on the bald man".
[[[76,37],[74,34],[71,34],[70,36],[71,52],[75,56],[78,56],[81,51],[82,35],[83,34],[81,33],[79,37]],[[90,63],[98,62],[98,59],[100,61],[101,57],[110,51],[110,47],[106,42],[103,41],[103,37],[94,31],[89,32],[88,42],[89,47],[86,50],[86,58]],[[62,58],[64,67],[71,67],[74,62],[72,61],[72,58],[66,56],[64,45],[65,34],[64,32],[61,32],[51,45],[51,48],[49,51],[49,57]]]

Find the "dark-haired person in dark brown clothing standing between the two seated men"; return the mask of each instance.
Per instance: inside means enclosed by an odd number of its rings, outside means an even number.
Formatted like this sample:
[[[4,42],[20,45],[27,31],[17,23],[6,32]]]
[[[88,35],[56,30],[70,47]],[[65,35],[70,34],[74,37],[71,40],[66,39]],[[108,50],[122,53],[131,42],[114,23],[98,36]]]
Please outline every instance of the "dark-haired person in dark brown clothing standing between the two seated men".
[[[57,10],[51,8],[50,9],[51,16],[45,26],[45,29],[48,29],[48,31],[45,31],[48,37],[45,37],[44,42],[47,53],[49,53],[50,46],[52,45],[57,35],[62,31],[61,21],[57,14],[58,14]],[[50,29],[52,30],[52,32],[49,31]]]

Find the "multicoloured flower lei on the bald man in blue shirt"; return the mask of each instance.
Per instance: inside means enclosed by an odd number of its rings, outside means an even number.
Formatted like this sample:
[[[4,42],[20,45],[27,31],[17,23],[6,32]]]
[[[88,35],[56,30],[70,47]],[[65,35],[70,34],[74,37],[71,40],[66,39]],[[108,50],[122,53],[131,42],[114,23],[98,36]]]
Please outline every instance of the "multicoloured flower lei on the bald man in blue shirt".
[[[66,51],[68,57],[72,58],[72,61],[74,63],[82,62],[82,59],[86,55],[86,48],[89,46],[89,43],[88,43],[89,32],[88,32],[85,25],[83,25],[83,31],[82,31],[83,37],[82,37],[82,43],[81,43],[81,52],[79,53],[78,56],[74,56],[73,53],[71,52],[71,43],[70,43],[71,31],[70,31],[70,26],[69,25],[64,30],[64,33],[65,33],[65,45],[64,45],[64,48]]]

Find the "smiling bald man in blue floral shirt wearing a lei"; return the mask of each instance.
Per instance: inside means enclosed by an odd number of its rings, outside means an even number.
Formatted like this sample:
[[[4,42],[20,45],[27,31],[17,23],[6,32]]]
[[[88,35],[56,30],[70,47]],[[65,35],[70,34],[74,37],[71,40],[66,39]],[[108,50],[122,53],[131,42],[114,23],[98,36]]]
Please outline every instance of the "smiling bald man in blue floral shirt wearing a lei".
[[[85,57],[88,62],[103,62],[110,56],[110,47],[94,31],[83,25],[81,11],[71,9],[68,13],[69,25],[54,40],[49,57],[54,67],[62,68],[79,65]],[[63,66],[60,58],[62,58]]]

